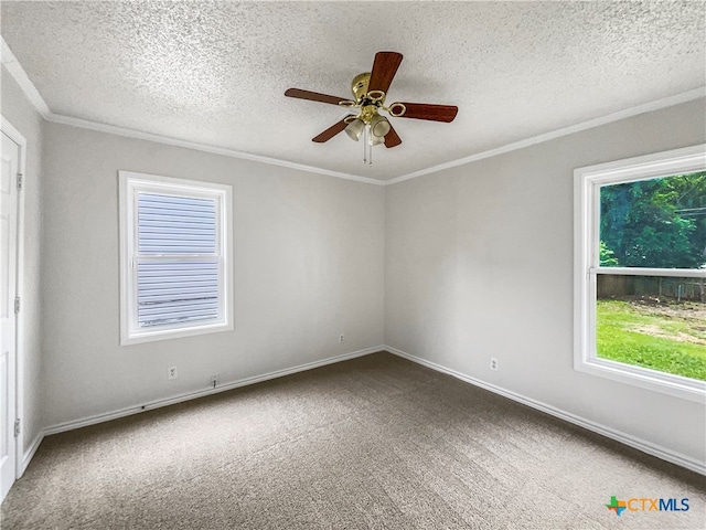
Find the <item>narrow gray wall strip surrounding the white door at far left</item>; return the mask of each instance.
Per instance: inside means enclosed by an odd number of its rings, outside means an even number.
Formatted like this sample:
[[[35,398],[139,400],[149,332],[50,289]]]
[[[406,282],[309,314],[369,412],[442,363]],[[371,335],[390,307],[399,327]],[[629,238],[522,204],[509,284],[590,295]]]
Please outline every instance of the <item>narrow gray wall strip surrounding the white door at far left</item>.
[[[24,448],[26,452],[44,427],[40,389],[42,388],[41,336],[41,193],[42,193],[42,128],[44,120],[26,99],[4,66],[2,66],[2,116],[26,139],[26,168],[24,174],[24,264],[22,321],[24,329]]]

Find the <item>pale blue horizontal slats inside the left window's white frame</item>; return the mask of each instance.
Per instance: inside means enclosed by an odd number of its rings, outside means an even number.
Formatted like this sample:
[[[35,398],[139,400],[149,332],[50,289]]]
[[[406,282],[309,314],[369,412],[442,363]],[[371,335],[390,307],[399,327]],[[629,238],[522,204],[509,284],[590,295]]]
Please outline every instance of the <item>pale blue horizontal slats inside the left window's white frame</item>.
[[[216,200],[138,193],[141,328],[218,318]]]

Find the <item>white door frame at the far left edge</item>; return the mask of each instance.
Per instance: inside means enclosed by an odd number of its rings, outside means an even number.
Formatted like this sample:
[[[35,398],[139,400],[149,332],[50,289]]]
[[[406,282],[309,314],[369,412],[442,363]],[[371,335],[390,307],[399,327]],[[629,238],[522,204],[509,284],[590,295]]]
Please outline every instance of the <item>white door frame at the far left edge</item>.
[[[26,190],[26,138],[12,126],[4,116],[1,118],[0,130],[8,135],[19,147],[18,171],[22,174],[22,189],[18,192],[18,241],[17,241],[17,273],[15,296],[24,301],[24,194]],[[22,306],[22,305],[21,305]],[[20,434],[14,437],[14,477],[15,480],[24,474],[24,431],[26,426],[24,417],[24,310],[20,306],[20,312],[15,317],[14,328],[14,421],[20,418]]]

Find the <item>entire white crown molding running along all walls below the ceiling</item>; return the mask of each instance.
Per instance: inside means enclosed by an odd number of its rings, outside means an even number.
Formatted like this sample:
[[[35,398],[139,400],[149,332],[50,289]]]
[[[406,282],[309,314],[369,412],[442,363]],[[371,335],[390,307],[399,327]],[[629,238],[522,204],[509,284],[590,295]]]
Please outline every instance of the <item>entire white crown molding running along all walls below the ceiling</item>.
[[[12,51],[10,50],[8,44],[4,42],[4,39],[1,35],[0,35],[0,41],[2,43],[2,65],[8,70],[10,75],[12,75],[14,81],[17,81],[17,83],[20,85],[20,88],[24,92],[25,96],[34,105],[36,110],[47,121],[68,125],[72,127],[79,127],[83,129],[96,130],[99,132],[108,132],[108,134],[124,136],[128,138],[137,138],[140,140],[154,141],[158,144],[165,144],[169,146],[183,147],[186,149],[194,149],[197,151],[211,152],[214,155],[222,155],[231,158],[252,160],[255,162],[268,163],[271,166],[279,166],[284,168],[296,169],[299,171],[325,174],[329,177],[335,177],[338,179],[353,180],[356,182],[363,182],[366,184],[375,184],[375,186],[396,184],[399,182],[404,182],[406,180],[416,179],[417,177],[424,177],[425,174],[437,173],[445,169],[456,168],[458,166],[475,162],[478,160],[483,160],[485,158],[496,157],[505,152],[515,151],[517,149],[524,149],[525,147],[534,146],[536,144],[542,144],[544,141],[560,138],[563,136],[573,135],[575,132],[580,132],[582,130],[591,129],[593,127],[599,127],[601,125],[607,125],[624,118],[630,118],[632,116],[638,116],[640,114],[651,113],[653,110],[659,110],[661,108],[672,107],[681,103],[692,102],[695,99],[706,97],[706,86],[702,86],[699,88],[694,88],[692,91],[683,92],[682,94],[676,94],[674,96],[668,96],[662,99],[657,99],[654,102],[630,107],[624,110],[619,110],[617,113],[608,114],[599,118],[589,119],[588,121],[582,121],[580,124],[571,125],[569,127],[563,127],[560,129],[556,129],[549,132],[544,132],[542,135],[525,138],[523,140],[513,141],[505,146],[501,146],[494,149],[489,149],[482,152],[477,152],[475,155],[459,158],[450,162],[445,162],[438,166],[431,166],[429,168],[421,169],[419,171],[413,171],[411,173],[402,174],[399,177],[395,177],[389,180],[378,180],[378,179],[372,179],[368,177],[359,177],[357,174],[352,174],[352,173],[344,173],[340,171],[332,171],[329,169],[317,168],[314,166],[306,166],[303,163],[291,162],[291,161],[281,160],[278,158],[263,157],[259,155],[252,155],[249,152],[236,151],[234,149],[226,149],[223,147],[215,147],[206,144],[199,144],[195,141],[179,140],[176,138],[154,135],[151,132],[143,132],[135,129],[128,129],[125,127],[117,127],[114,125],[100,124],[100,123],[90,121],[87,119],[81,119],[81,118],[74,118],[71,116],[54,114],[51,112],[51,109],[46,105],[46,102],[44,102],[44,98],[39,93],[34,84],[30,81],[29,76],[26,75],[26,72],[24,72],[24,68],[22,67],[22,65],[20,64],[18,59],[14,56],[14,54],[12,53]]]

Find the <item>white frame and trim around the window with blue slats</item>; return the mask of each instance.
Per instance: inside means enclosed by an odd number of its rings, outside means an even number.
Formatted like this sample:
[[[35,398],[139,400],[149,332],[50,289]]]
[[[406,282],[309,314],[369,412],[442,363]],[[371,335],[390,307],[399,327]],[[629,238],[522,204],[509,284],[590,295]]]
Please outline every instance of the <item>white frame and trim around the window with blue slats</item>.
[[[229,331],[233,325],[233,187],[173,179],[156,174],[118,171],[119,211],[120,211],[120,344],[137,344],[153,340],[174,339],[194,335]],[[160,326],[157,329],[140,329],[137,322],[137,282],[135,280],[133,250],[137,237],[136,200],[137,192],[157,193],[176,192],[193,197],[202,195],[217,199],[221,223],[217,226],[217,242],[221,246],[223,266],[218,282],[223,286],[222,315],[218,320],[191,326]],[[130,231],[129,227],[132,227]]]

